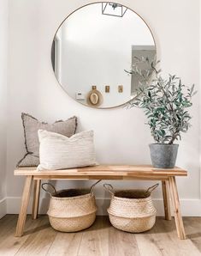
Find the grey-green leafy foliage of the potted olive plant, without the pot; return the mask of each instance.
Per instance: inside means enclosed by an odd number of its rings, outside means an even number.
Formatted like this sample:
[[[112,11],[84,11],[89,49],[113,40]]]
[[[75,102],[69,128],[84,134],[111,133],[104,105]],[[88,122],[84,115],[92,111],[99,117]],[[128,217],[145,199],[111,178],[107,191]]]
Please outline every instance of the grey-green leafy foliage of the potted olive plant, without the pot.
[[[164,79],[157,69],[157,60],[135,58],[133,74],[141,77],[137,99],[129,107],[144,109],[151,135],[157,143],[172,143],[186,132],[192,119],[187,107],[192,107],[192,96],[197,92],[186,87],[180,77],[169,75]],[[143,64],[143,65],[142,65]],[[142,70],[142,66],[147,69]],[[129,72],[129,71],[128,71]]]

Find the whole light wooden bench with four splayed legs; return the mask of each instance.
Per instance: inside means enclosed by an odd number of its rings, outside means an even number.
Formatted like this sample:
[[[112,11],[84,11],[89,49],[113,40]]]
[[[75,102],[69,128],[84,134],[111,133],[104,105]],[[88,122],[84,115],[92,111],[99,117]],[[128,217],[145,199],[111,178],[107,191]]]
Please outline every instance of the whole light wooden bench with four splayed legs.
[[[161,180],[163,187],[165,219],[171,220],[169,200],[170,192],[171,202],[174,208],[174,221],[178,236],[180,239],[186,239],[180,212],[180,200],[175,180],[175,176],[187,176],[187,172],[184,169],[156,169],[146,165],[99,165],[88,168],[45,171],[37,171],[36,168],[18,168],[15,170],[15,175],[26,176],[25,186],[21,198],[21,211],[16,227],[16,236],[21,236],[24,232],[32,184],[33,219],[36,219],[38,216],[41,180]]]

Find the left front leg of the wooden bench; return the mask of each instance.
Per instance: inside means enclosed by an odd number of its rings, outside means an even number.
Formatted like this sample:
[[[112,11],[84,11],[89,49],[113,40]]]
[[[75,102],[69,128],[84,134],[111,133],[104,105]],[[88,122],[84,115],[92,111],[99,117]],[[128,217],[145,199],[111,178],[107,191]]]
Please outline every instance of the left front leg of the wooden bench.
[[[30,192],[31,192],[31,188],[32,188],[32,181],[33,181],[33,176],[27,176],[23,194],[22,194],[22,198],[21,198],[21,211],[18,216],[18,222],[17,222],[15,236],[23,235],[25,222],[26,222],[26,218],[27,218],[27,208],[28,208],[28,202],[29,202]]]

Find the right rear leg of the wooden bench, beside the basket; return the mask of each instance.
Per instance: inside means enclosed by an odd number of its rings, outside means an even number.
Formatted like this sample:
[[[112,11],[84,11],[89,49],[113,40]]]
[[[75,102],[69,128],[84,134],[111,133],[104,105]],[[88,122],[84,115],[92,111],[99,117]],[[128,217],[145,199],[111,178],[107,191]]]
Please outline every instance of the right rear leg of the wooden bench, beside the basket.
[[[162,189],[163,189],[163,204],[164,204],[165,219],[167,221],[171,221],[168,180],[162,181]]]

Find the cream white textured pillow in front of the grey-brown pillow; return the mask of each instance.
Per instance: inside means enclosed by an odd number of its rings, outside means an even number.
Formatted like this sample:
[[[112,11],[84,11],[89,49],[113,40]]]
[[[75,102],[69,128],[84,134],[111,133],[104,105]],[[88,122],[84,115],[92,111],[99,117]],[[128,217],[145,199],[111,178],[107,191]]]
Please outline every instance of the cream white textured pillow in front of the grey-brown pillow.
[[[38,139],[38,170],[96,165],[93,131],[82,131],[72,137],[66,137],[56,132],[38,130]]]

